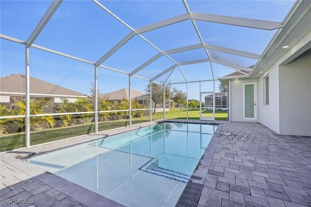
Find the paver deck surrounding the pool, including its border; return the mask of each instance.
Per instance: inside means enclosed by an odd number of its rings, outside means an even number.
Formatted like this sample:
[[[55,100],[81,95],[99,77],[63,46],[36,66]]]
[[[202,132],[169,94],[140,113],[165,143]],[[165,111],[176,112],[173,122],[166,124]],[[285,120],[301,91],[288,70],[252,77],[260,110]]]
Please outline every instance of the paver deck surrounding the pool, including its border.
[[[311,137],[278,135],[255,122],[187,122],[222,127],[208,146],[213,151],[206,151],[176,206],[311,206]],[[19,158],[147,125],[0,154],[0,206],[122,206]]]

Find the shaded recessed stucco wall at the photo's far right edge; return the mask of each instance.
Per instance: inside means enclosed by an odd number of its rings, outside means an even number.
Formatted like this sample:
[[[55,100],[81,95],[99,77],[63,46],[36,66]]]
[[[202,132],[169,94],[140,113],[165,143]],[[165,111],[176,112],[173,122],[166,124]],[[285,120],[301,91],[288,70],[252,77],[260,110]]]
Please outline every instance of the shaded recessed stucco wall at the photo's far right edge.
[[[279,66],[280,134],[311,136],[311,52]]]

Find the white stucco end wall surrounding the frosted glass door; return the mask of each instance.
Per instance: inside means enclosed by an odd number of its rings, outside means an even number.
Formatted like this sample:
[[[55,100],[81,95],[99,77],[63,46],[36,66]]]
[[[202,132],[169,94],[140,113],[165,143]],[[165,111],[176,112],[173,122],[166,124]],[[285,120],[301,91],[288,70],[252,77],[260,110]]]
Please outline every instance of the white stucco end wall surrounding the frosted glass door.
[[[259,107],[257,104],[257,119],[256,120],[244,120],[243,119],[243,83],[256,83],[256,103],[258,103],[259,83],[258,78],[231,80],[230,83],[230,109],[231,109],[231,121],[259,121]]]

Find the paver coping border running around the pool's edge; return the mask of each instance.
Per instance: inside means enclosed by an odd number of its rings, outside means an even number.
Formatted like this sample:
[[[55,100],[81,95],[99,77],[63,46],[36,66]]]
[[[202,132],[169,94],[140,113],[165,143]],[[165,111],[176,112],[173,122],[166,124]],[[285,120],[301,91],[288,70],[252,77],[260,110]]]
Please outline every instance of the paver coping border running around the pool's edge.
[[[154,125],[161,122],[184,122],[184,123],[206,123],[206,124],[217,124],[218,127],[213,135],[211,141],[209,142],[204,155],[201,157],[196,170],[192,173],[186,188],[179,197],[176,206],[197,206],[200,194],[203,188],[204,181],[207,176],[207,171],[211,162],[211,157],[215,151],[215,147],[219,138],[219,134],[222,128],[223,121],[199,121],[199,120],[159,120],[147,123],[140,123],[133,126],[117,128],[109,131],[103,131],[98,134],[86,135],[79,138],[72,138],[66,140],[59,140],[53,143],[46,143],[42,145],[37,145],[29,149],[18,149],[16,151],[7,152],[6,154],[1,154],[1,162],[11,165],[17,168],[20,173],[26,174],[25,177],[35,178],[36,180],[59,190],[60,192],[68,195],[70,198],[78,201],[85,206],[123,206],[103,195],[97,194],[91,190],[87,190],[75,183],[72,183],[64,178],[61,178],[55,174],[49,173],[43,169],[25,162],[23,159],[31,155],[45,154],[55,150],[60,150],[70,146],[82,144],[88,141],[93,141],[106,136],[111,136],[115,134],[120,134],[125,131],[132,131],[137,128]],[[210,159],[207,159],[210,157]],[[25,181],[24,181],[25,182]],[[14,185],[14,184],[13,184]],[[18,184],[16,184],[18,185]],[[1,182],[1,186],[2,182]],[[5,185],[7,186],[7,184]],[[190,205],[191,204],[191,205]]]

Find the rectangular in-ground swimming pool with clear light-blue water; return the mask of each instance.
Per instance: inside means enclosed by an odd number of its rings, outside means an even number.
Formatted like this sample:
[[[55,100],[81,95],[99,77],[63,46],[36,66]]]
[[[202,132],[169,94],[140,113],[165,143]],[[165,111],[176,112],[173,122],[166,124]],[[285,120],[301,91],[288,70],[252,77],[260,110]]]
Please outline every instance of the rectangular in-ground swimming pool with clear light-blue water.
[[[162,122],[26,160],[124,206],[174,206],[216,128]]]

